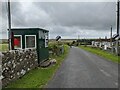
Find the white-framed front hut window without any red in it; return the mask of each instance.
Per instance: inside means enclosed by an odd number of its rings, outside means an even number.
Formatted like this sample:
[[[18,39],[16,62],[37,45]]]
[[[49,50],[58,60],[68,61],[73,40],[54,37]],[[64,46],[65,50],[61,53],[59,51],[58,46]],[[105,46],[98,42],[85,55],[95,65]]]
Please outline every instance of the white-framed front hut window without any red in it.
[[[36,48],[36,35],[25,35],[25,48]]]

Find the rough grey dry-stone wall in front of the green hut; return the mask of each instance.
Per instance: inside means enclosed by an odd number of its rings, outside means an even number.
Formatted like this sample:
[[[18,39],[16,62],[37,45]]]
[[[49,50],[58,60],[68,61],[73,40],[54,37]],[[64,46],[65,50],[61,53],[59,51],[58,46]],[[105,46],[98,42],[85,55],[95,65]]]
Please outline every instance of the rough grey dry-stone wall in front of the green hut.
[[[33,49],[2,52],[2,86],[38,66],[37,52]]]

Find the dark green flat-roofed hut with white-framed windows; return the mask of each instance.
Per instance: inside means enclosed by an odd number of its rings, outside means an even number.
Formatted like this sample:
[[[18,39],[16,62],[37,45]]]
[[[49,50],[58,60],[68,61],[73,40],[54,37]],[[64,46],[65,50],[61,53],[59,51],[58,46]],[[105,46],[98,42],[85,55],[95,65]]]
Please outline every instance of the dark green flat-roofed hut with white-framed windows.
[[[41,28],[14,28],[11,32],[13,49],[36,49],[38,64],[49,58],[49,31]]]

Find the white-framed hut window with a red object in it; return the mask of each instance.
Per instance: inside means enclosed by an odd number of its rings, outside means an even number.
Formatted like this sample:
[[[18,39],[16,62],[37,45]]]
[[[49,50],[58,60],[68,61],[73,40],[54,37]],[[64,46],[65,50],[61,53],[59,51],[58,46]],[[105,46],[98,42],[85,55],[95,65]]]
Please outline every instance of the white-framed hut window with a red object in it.
[[[22,35],[14,35],[14,48],[22,49]]]

